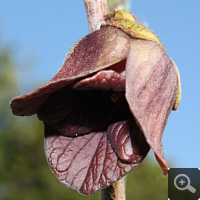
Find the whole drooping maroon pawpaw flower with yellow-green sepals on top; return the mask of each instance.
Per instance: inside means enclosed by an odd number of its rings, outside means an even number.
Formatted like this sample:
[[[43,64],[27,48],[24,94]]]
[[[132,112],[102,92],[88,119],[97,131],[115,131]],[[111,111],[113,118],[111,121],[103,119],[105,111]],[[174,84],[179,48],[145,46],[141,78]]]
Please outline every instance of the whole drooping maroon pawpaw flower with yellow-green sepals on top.
[[[11,101],[37,114],[57,178],[89,195],[122,178],[151,148],[164,174],[162,134],[180,101],[180,78],[157,36],[125,11],[79,40],[45,85]]]

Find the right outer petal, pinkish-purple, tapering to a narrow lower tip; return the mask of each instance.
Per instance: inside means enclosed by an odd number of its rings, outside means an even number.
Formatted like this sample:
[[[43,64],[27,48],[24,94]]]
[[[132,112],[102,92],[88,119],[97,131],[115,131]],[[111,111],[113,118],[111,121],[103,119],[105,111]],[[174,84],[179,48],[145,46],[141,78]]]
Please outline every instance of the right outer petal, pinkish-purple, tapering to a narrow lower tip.
[[[175,66],[156,43],[132,40],[126,64],[126,99],[165,174],[162,134],[177,95]]]

